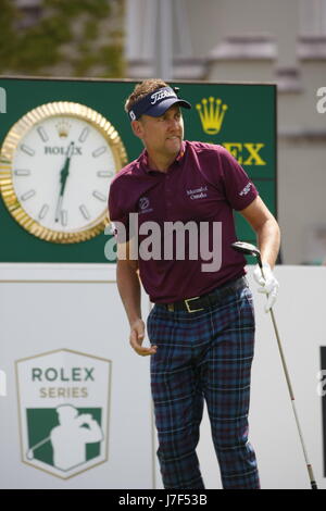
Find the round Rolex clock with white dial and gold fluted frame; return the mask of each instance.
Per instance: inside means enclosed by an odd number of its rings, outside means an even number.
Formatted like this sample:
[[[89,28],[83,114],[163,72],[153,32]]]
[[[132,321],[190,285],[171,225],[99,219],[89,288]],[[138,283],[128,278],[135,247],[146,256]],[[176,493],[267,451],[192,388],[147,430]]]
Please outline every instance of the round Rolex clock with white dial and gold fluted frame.
[[[3,141],[2,198],[32,235],[84,241],[108,224],[110,183],[126,161],[118,133],[100,113],[66,101],[42,104],[14,124]]]

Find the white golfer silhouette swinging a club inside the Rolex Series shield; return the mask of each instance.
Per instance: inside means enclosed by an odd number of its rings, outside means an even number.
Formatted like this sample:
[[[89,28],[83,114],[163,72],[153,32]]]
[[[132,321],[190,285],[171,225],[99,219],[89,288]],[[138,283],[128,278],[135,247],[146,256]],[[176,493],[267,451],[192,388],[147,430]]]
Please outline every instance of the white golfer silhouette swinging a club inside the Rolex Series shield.
[[[53,450],[53,466],[70,471],[87,461],[86,446],[104,439],[103,432],[90,413],[78,414],[72,404],[55,409],[59,425],[41,443],[29,449],[27,459],[34,458],[34,450],[50,441]]]

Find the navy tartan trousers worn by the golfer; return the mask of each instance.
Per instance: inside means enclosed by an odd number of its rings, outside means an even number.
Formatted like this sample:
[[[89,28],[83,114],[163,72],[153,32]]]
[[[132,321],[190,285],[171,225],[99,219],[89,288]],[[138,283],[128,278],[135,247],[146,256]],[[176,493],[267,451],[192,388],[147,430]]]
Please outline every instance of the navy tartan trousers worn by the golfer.
[[[254,351],[249,287],[243,284],[200,312],[170,312],[155,304],[147,327],[158,346],[151,356],[151,390],[164,488],[204,488],[196,447],[205,400],[223,488],[259,489],[248,441]]]

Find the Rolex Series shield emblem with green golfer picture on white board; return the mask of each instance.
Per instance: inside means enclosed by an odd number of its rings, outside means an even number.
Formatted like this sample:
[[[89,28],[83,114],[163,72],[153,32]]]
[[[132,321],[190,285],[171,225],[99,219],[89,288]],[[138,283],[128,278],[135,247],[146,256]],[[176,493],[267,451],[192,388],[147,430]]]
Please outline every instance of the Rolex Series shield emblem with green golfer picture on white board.
[[[68,479],[109,461],[111,365],[65,348],[16,361],[22,463]]]

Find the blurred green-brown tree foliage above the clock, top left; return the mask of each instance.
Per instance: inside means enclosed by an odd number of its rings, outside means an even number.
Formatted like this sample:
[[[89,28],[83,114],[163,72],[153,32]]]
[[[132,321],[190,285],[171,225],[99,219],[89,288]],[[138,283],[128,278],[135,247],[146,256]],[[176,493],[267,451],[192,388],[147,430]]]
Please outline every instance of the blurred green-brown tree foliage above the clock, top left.
[[[124,0],[40,0],[39,13],[26,26],[0,0],[0,73],[123,77]]]

